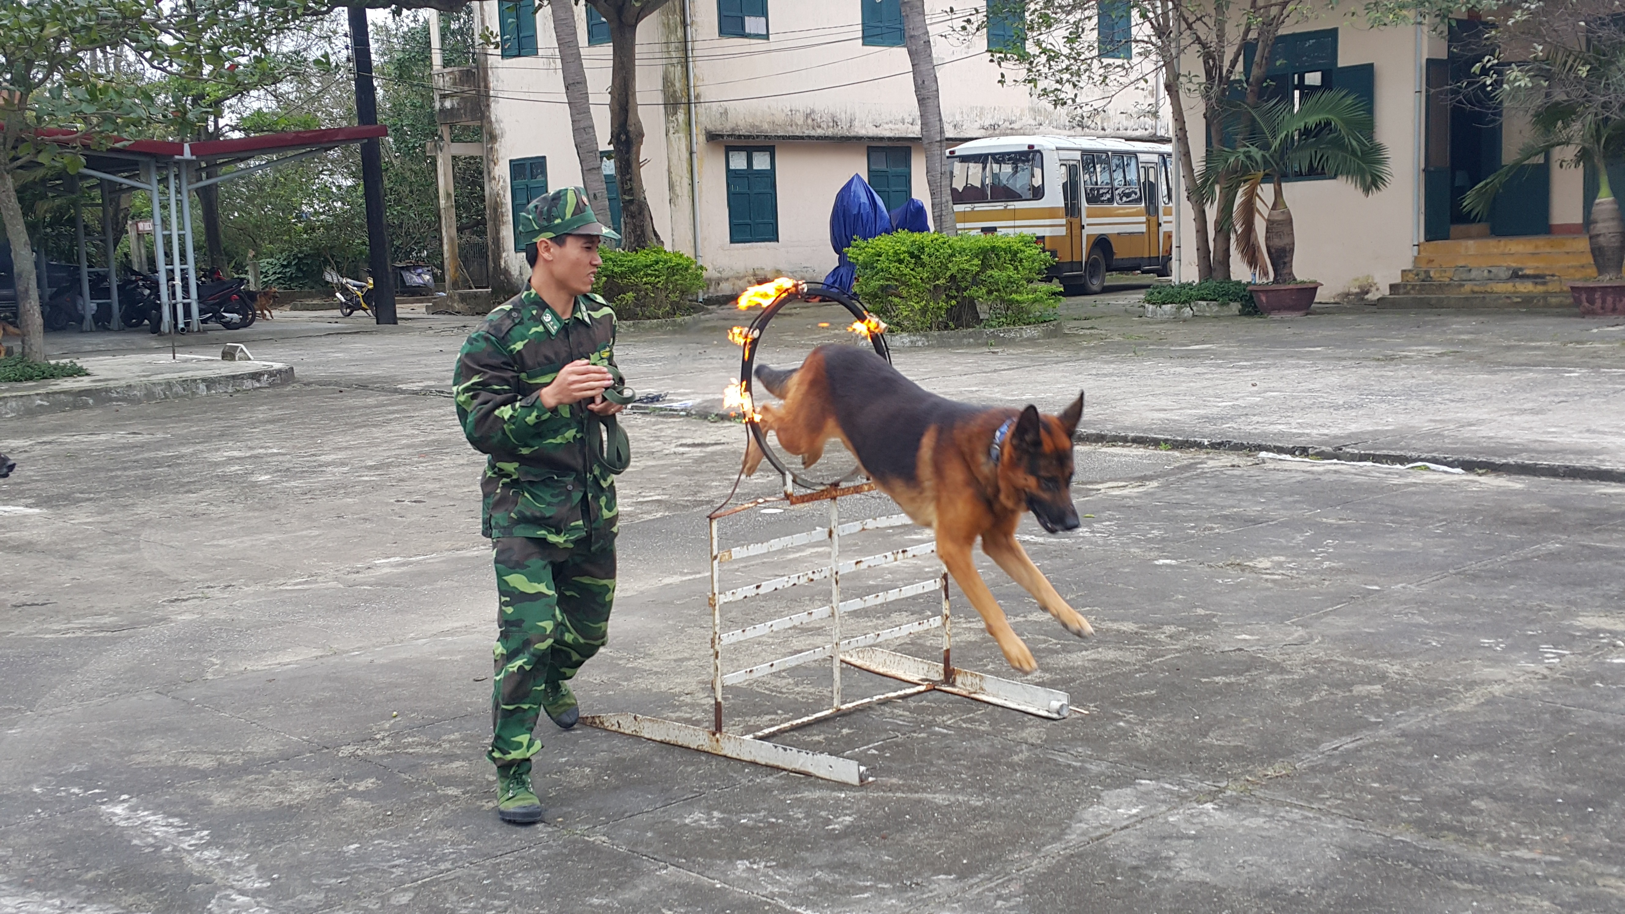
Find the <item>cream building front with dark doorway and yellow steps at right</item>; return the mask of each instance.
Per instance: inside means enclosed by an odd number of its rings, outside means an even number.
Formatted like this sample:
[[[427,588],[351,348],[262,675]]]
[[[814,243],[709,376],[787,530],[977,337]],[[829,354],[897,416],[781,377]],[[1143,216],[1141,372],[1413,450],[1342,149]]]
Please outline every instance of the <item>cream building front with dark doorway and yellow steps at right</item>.
[[[1557,304],[1568,301],[1565,280],[1596,275],[1584,237],[1596,176],[1562,166],[1562,155],[1528,166],[1487,220],[1462,211],[1466,192],[1513,161],[1528,137],[1514,112],[1461,88],[1484,57],[1487,28],[1469,18],[1372,28],[1332,10],[1277,37],[1269,91],[1285,98],[1344,88],[1365,99],[1393,169],[1388,187],[1372,197],[1326,177],[1285,182],[1295,272],[1323,283],[1320,301],[1386,293],[1391,304],[1451,304],[1461,296]],[[1196,62],[1186,68],[1196,72]],[[1204,137],[1198,99],[1186,99],[1185,111],[1190,135]],[[1181,275],[1194,280],[1188,218],[1180,231]],[[1232,268],[1246,278],[1238,257]]]

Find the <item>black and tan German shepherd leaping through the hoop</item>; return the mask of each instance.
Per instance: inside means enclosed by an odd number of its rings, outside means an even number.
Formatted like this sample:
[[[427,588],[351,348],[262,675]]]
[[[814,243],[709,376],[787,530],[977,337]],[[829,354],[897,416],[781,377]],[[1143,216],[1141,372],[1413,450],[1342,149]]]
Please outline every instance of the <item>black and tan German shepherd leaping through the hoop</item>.
[[[1055,592],[1016,542],[1016,524],[1032,511],[1045,530],[1074,530],[1072,433],[1084,415],[1079,394],[1058,416],[983,408],[930,394],[873,351],[824,345],[801,368],[756,368],[756,377],[782,403],[764,403],[762,431],[811,467],[838,437],[863,472],[921,527],[936,532],[936,555],[999,644],[1011,667],[1038,668],[1032,651],[977,572],[970,548],[982,551],[1020,584],[1066,631],[1094,634],[1089,621]],[[751,439],[744,472],[762,462]]]

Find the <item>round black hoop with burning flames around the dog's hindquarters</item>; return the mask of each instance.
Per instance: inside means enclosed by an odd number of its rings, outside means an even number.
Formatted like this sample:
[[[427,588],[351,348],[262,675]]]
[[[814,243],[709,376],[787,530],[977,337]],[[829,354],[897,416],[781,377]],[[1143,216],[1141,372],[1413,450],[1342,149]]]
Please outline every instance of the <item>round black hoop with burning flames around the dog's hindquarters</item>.
[[[756,437],[756,444],[762,449],[767,462],[778,470],[778,475],[785,480],[785,493],[791,490],[791,483],[808,488],[808,490],[824,490],[830,486],[840,486],[852,481],[861,472],[853,470],[838,480],[808,480],[801,473],[788,468],[783,460],[780,460],[778,452],[767,444],[767,433],[762,431],[762,413],[756,410],[756,400],[751,395],[751,384],[756,372],[756,350],[762,342],[762,333],[767,332],[767,324],[772,322],[774,316],[778,314],[786,304],[793,301],[806,301],[809,298],[819,298],[824,301],[832,301],[840,304],[852,312],[855,320],[847,327],[852,333],[856,333],[874,346],[874,353],[886,361],[892,361],[890,348],[886,345],[886,322],[879,317],[869,314],[863,304],[824,283],[803,283],[791,280],[788,276],[780,276],[770,283],[760,283],[751,286],[739,293],[736,301],[739,311],[751,311],[759,307],[756,319],[751,320],[749,327],[734,327],[728,330],[728,340],[741,346],[743,355],[739,358],[739,379],[728,384],[723,390],[723,408],[738,410],[744,424],[751,429],[751,436]],[[819,324],[819,327],[829,327],[829,324]]]

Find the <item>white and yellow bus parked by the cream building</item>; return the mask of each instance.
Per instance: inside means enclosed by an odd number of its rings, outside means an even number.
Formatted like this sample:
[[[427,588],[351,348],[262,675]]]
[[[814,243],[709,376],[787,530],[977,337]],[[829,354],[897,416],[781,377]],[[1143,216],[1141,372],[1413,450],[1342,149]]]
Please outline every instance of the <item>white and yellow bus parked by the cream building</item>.
[[[1107,272],[1168,275],[1173,194],[1168,143],[1105,137],[990,137],[947,153],[959,231],[1032,234],[1068,294],[1095,294]]]

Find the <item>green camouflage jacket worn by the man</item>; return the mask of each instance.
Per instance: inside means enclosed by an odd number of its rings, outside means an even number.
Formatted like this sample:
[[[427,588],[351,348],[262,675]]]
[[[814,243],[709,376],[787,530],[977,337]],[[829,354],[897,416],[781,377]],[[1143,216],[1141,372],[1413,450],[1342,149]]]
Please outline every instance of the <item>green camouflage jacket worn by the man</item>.
[[[614,477],[587,455],[587,407],[543,408],[540,390],[575,359],[614,364],[614,311],[578,296],[569,320],[531,289],[494,309],[468,335],[452,377],[457,418],[489,454],[481,532],[572,548],[614,543]]]

